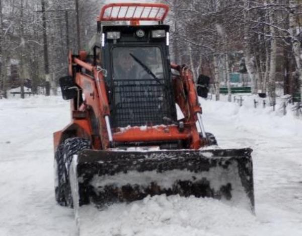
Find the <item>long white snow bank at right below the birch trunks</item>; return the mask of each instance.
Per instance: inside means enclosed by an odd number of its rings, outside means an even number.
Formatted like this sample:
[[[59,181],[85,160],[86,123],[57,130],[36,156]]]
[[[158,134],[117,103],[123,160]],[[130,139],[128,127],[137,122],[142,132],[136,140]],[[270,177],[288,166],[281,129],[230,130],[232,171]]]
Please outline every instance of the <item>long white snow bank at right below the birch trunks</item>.
[[[287,108],[287,114],[283,115],[282,100],[278,100],[275,111],[271,106],[258,104],[254,108],[254,99],[260,99],[258,96],[243,96],[243,106],[235,102],[224,101],[226,96],[222,96],[222,101],[205,100],[199,97],[199,102],[204,113],[204,117],[216,116],[224,117],[230,123],[235,122],[236,129],[241,131],[253,131],[261,134],[265,131],[270,136],[300,135],[302,134],[302,119],[295,116],[294,112]],[[205,122],[206,127],[206,122]],[[219,144],[219,139],[218,139]]]

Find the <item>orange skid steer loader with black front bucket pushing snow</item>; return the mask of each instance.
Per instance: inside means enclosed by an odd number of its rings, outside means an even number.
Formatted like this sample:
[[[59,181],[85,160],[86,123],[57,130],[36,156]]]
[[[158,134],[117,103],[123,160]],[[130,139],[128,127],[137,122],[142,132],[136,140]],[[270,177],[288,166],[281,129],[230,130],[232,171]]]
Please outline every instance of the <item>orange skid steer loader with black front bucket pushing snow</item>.
[[[90,49],[69,53],[59,82],[71,123],[54,133],[60,205],[102,209],[178,194],[254,209],[252,150],[220,149],[205,131],[190,69],[170,62],[168,10],[106,5]]]

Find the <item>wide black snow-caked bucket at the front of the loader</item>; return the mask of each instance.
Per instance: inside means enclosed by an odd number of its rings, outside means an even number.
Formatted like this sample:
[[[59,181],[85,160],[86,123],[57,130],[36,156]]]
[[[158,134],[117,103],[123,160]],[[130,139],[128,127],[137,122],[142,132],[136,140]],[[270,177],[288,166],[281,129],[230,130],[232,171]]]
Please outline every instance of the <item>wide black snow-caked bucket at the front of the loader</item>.
[[[212,197],[254,211],[252,149],[84,150],[70,171],[73,203],[103,208],[147,195]]]

